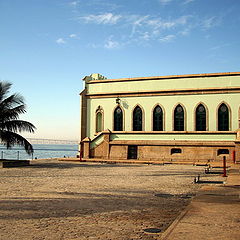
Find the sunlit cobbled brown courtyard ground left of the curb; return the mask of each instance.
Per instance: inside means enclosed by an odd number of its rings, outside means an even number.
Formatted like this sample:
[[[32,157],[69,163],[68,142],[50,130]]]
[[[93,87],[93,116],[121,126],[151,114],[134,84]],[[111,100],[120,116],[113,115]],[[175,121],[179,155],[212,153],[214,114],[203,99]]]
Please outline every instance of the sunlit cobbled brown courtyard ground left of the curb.
[[[0,239],[158,239],[203,167],[34,160],[0,168]]]

